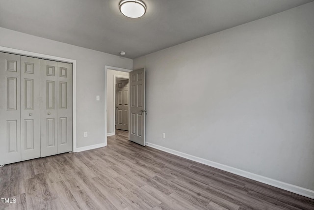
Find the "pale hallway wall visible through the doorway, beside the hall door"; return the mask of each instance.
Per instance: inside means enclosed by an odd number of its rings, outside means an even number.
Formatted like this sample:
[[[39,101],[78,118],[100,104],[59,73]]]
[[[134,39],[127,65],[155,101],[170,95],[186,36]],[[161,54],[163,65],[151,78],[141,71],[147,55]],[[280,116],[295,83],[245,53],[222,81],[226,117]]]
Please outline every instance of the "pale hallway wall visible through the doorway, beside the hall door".
[[[129,77],[128,72],[107,70],[107,133],[113,133],[115,106],[114,101],[114,75]]]

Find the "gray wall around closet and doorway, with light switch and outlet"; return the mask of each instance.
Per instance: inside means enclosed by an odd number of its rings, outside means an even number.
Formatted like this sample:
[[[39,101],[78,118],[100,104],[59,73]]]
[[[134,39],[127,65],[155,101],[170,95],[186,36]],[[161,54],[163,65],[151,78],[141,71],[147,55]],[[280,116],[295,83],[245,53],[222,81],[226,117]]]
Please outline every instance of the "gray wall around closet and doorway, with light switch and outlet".
[[[104,143],[105,65],[132,69],[132,60],[4,28],[0,37],[0,46],[77,60],[77,147]]]

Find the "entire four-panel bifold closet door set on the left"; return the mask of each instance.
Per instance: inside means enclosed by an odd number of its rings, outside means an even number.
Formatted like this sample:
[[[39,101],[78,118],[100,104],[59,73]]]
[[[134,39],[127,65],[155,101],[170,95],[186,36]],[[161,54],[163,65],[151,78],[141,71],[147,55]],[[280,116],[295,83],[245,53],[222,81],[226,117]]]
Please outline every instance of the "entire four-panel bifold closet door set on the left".
[[[0,52],[0,165],[72,151],[72,64]]]

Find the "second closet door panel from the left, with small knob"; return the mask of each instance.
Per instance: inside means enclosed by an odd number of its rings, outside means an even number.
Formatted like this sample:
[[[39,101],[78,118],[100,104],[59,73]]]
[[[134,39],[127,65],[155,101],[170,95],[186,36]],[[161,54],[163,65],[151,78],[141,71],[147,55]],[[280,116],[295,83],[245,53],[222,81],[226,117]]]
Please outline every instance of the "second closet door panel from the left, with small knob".
[[[22,160],[40,157],[40,59],[21,56]]]

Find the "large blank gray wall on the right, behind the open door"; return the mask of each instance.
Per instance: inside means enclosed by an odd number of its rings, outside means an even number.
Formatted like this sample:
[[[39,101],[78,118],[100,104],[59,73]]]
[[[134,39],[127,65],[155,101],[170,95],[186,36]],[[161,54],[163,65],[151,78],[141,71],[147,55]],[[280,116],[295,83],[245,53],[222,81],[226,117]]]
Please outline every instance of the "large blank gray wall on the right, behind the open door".
[[[313,11],[133,60],[147,70],[147,141],[314,190]]]

